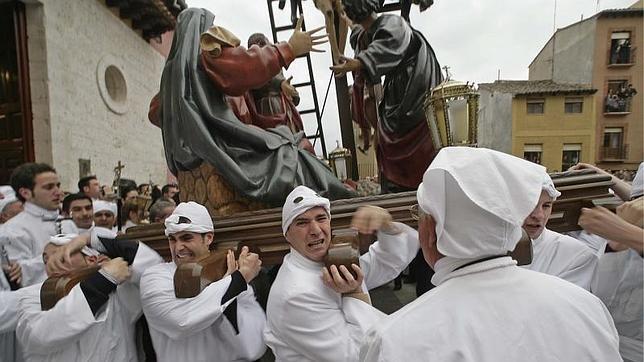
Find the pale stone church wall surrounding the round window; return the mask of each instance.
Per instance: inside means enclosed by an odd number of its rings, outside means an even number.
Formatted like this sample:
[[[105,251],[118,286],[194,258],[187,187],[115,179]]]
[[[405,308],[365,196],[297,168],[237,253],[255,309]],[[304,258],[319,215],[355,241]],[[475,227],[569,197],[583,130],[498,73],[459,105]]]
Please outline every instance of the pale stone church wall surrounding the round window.
[[[36,159],[52,162],[62,186],[76,190],[78,159],[111,183],[118,160],[122,177],[166,179],[161,131],[147,120],[164,58],[99,0],[27,3]],[[104,102],[99,65],[116,65],[127,97],[122,114]]]

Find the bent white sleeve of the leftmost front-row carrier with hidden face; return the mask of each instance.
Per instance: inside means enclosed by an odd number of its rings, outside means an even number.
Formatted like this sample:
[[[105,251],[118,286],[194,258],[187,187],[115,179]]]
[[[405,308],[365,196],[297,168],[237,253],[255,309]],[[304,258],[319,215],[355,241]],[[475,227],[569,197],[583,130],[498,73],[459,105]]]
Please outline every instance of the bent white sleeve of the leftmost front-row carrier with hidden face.
[[[48,311],[41,310],[40,285],[24,292],[20,295],[16,336],[25,351],[50,354],[66,348],[92,325],[105,320],[106,313],[94,318],[80,284]]]

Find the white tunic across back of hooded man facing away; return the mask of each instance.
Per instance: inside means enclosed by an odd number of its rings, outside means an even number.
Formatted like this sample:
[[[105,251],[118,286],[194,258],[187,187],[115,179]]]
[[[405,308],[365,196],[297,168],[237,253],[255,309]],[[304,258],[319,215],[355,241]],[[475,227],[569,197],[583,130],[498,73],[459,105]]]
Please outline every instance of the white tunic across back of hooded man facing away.
[[[576,285],[509,257],[445,279],[372,328],[361,361],[620,360],[608,310]]]

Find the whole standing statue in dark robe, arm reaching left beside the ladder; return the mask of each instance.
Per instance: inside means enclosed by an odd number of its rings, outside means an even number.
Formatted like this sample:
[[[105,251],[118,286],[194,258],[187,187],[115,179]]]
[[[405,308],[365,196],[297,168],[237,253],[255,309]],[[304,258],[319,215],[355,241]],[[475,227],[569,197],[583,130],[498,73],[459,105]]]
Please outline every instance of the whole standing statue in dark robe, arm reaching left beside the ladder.
[[[342,58],[332,69],[336,75],[353,72],[353,118],[363,131],[376,130],[382,193],[414,190],[435,155],[423,101],[442,81],[440,64],[423,34],[403,17],[376,14],[379,0],[342,4],[357,24],[350,37],[355,57]],[[380,87],[382,95],[375,99]],[[364,137],[365,148],[368,139]]]

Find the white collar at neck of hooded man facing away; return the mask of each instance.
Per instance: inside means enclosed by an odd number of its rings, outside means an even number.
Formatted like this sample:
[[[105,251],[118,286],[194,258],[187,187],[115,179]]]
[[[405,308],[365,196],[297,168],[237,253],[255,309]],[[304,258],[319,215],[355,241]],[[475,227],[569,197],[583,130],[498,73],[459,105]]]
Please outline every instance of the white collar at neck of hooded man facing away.
[[[517,265],[516,260],[510,256],[502,256],[490,260],[476,262],[481,258],[457,259],[448,256],[440,258],[434,264],[434,276],[432,284],[438,286],[449,279],[460,277],[467,274],[480,273],[486,270],[501,268],[510,265]],[[463,266],[468,263],[471,265]]]

